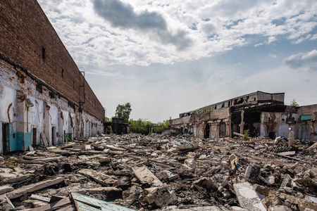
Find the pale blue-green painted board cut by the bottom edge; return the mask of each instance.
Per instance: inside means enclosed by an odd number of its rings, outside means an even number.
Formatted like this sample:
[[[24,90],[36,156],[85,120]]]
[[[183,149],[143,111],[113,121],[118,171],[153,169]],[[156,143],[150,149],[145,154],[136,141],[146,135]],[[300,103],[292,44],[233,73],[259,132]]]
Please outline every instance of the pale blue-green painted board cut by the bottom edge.
[[[89,196],[84,196],[79,193],[70,193],[70,198],[73,200],[77,211],[84,211],[84,210],[133,211],[127,207],[123,207],[113,203],[108,203],[104,200],[91,198]]]

